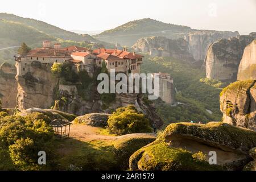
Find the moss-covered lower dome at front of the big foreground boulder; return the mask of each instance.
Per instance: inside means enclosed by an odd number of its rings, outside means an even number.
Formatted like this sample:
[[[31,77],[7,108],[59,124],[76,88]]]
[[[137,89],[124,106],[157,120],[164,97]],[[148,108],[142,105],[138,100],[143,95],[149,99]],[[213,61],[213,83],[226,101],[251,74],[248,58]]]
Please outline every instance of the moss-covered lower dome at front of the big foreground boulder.
[[[131,156],[131,160],[137,160],[138,154],[143,151],[141,159],[138,161],[139,168],[147,171],[176,171],[176,170],[214,170],[219,166],[211,166],[205,160],[195,158],[192,152],[183,148],[172,148],[166,143],[156,143],[144,147]]]

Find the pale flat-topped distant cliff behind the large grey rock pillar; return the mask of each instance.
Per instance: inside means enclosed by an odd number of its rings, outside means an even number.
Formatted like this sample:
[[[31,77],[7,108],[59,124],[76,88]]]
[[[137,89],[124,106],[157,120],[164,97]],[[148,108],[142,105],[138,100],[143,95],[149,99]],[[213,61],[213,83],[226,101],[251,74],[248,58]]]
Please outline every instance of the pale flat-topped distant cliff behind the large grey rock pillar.
[[[196,31],[185,35],[185,40],[189,44],[189,52],[193,58],[204,60],[210,44],[222,38],[228,39],[238,35],[238,32]]]

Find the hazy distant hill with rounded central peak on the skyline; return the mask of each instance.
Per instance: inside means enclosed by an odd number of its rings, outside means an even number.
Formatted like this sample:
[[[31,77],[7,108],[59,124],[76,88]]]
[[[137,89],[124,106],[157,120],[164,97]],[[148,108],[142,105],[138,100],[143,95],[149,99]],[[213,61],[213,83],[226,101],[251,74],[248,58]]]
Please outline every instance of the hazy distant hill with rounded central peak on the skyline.
[[[194,31],[190,27],[159,22],[145,18],[134,20],[111,30],[106,30],[94,36],[98,40],[121,45],[133,46],[140,38],[148,36],[166,36],[170,39],[184,38],[184,35]]]

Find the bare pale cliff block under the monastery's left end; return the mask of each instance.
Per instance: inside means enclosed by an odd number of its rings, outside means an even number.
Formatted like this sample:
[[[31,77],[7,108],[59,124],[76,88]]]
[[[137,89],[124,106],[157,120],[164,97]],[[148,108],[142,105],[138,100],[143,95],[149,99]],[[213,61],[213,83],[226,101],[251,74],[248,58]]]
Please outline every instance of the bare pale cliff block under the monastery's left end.
[[[18,82],[18,108],[30,107],[49,109],[53,104],[56,78],[51,73],[50,65],[31,65],[30,72],[16,76]]]

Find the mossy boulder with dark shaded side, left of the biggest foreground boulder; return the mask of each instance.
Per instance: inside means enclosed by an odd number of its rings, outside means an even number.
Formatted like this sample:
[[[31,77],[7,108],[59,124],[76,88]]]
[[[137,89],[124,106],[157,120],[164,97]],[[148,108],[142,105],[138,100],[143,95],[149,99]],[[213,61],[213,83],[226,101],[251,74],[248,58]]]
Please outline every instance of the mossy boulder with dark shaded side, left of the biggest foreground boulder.
[[[129,158],[147,144],[154,142],[154,134],[128,134],[114,140],[114,155],[122,169],[129,168]]]

